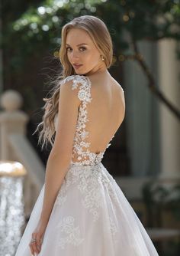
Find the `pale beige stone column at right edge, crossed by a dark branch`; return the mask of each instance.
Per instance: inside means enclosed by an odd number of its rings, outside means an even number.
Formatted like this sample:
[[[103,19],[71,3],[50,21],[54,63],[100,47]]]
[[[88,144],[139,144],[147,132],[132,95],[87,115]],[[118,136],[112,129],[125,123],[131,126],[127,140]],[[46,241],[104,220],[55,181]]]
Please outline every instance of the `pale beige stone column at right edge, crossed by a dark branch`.
[[[159,87],[162,93],[180,110],[180,61],[175,52],[178,43],[172,39],[159,41]],[[164,181],[180,179],[180,122],[160,104],[161,173]]]

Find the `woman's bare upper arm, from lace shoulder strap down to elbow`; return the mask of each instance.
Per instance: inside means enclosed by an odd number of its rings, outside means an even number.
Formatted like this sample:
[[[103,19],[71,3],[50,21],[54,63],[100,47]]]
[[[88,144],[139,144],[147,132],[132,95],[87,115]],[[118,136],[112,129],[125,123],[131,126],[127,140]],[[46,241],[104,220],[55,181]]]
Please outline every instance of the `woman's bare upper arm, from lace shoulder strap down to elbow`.
[[[72,156],[73,139],[81,100],[77,96],[78,88],[72,90],[72,80],[61,84],[59,91],[59,109],[56,135],[51,153],[53,156]]]

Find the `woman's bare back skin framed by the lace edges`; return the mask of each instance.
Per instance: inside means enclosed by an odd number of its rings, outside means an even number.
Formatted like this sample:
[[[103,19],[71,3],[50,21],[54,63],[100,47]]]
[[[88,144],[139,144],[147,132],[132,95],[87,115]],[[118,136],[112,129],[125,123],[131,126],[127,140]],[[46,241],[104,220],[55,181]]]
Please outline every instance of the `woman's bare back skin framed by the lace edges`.
[[[124,90],[110,74],[89,77],[92,101],[87,105],[89,150],[103,152],[124,120]]]

